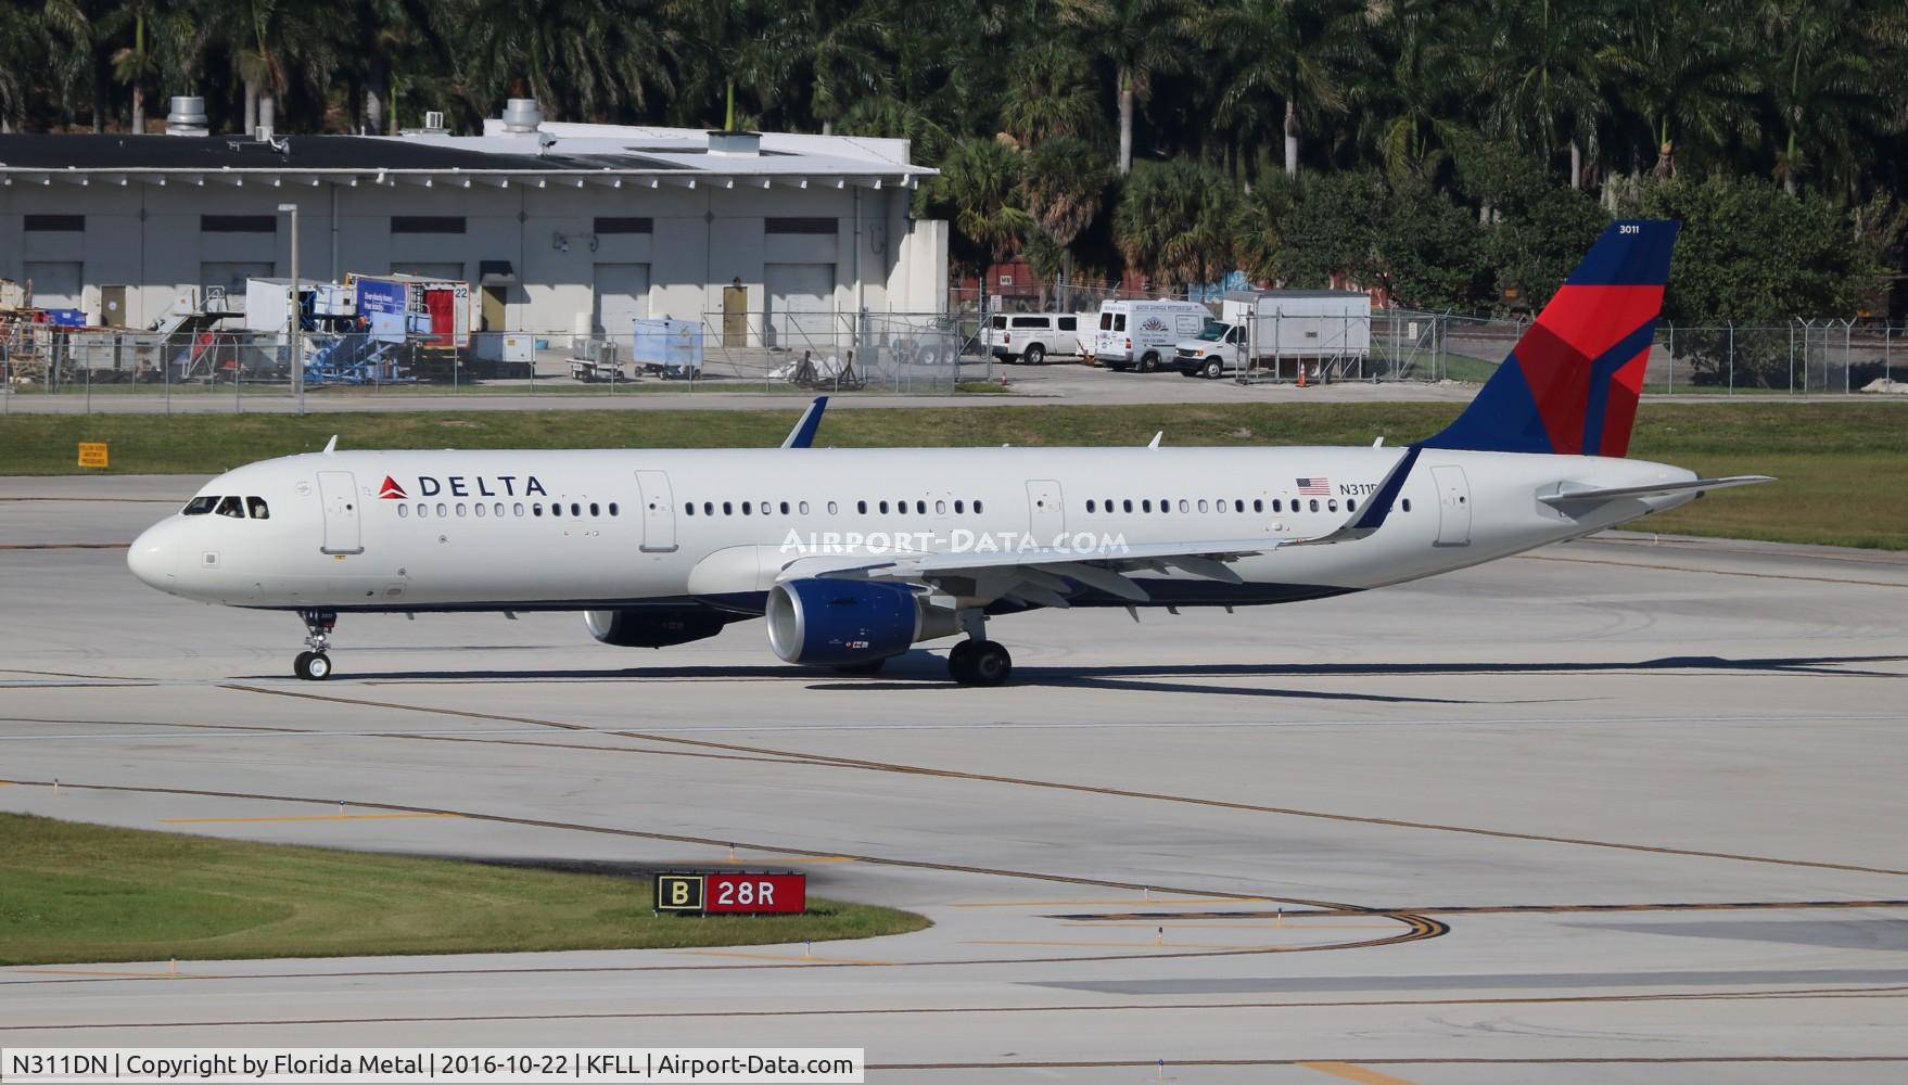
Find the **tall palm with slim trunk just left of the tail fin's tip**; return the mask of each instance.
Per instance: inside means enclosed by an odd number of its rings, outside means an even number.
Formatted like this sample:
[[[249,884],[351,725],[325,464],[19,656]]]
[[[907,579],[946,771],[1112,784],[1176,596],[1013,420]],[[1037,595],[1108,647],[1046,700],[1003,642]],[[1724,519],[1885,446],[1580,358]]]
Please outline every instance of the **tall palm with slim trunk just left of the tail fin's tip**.
[[[1597,151],[1607,86],[1622,67],[1607,0],[1496,0],[1486,15],[1484,126],[1545,160],[1566,145],[1570,187]]]

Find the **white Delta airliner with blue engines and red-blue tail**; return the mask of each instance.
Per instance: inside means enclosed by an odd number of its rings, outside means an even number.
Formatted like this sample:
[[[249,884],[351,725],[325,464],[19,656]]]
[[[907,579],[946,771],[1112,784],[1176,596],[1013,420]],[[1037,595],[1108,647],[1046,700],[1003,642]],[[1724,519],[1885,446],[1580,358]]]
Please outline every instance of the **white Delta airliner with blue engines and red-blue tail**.
[[[1383,587],[1670,509],[1698,479],[1624,460],[1675,223],[1614,223],[1477,400],[1402,448],[355,452],[219,475],[128,555],[185,599],[292,610],[301,679],[343,612],[580,610],[668,646],[767,618],[790,664],[874,671],[1040,606],[1234,606]]]

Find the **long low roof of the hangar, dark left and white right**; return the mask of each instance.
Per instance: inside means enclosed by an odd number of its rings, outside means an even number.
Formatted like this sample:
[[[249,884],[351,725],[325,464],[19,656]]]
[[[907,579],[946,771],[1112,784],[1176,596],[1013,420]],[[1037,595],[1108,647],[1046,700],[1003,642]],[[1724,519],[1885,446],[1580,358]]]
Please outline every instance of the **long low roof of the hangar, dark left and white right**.
[[[483,135],[0,135],[0,183],[914,187],[904,139],[544,122]]]

